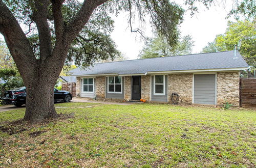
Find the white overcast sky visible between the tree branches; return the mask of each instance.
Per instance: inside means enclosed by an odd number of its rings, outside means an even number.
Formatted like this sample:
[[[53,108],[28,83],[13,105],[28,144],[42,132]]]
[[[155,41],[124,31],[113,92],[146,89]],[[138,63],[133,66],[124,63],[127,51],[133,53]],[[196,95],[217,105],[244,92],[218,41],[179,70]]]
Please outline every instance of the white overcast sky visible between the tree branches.
[[[81,1],[81,0],[80,0]],[[184,9],[183,0],[175,1]],[[193,37],[194,47],[192,53],[199,53],[207,42],[215,39],[216,35],[223,34],[227,28],[228,20],[225,19],[227,13],[232,9],[233,1],[220,1],[225,4],[215,4],[207,10],[203,5],[198,5],[198,12],[193,17],[187,11],[184,15],[183,23],[180,25],[181,36],[191,35]],[[144,46],[144,41],[136,33],[131,33],[128,24],[128,13],[121,13],[118,17],[113,17],[115,20],[115,29],[111,33],[112,39],[117,45],[117,49],[128,59],[133,60],[138,58],[139,51]],[[145,35],[152,37],[152,29],[149,24],[145,24]],[[3,36],[0,35],[3,40]]]

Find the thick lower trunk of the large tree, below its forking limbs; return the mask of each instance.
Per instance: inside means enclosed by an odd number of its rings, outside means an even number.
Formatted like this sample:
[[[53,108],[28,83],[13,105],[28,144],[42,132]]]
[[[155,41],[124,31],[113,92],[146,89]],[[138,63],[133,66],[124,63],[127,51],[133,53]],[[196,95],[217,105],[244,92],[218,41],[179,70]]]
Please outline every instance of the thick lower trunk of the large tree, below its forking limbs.
[[[58,118],[53,101],[55,82],[55,77],[44,79],[35,76],[34,78],[31,77],[31,81],[26,83],[25,121],[30,121],[31,124],[34,124],[40,123],[47,118]]]

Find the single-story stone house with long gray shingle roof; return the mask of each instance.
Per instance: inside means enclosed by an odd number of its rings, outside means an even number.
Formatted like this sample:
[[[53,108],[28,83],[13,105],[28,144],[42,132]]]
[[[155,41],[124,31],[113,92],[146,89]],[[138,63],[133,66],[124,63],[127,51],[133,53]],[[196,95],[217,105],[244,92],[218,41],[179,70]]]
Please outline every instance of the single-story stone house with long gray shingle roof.
[[[71,70],[77,96],[169,102],[239,105],[239,71],[248,68],[234,51],[100,63]]]

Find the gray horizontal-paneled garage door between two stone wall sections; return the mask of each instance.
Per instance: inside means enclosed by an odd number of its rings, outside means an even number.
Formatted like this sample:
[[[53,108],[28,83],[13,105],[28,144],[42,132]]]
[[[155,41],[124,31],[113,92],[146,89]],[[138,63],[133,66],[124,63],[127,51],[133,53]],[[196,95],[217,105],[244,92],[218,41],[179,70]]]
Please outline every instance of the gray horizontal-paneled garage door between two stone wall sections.
[[[194,103],[216,104],[215,74],[194,75]]]

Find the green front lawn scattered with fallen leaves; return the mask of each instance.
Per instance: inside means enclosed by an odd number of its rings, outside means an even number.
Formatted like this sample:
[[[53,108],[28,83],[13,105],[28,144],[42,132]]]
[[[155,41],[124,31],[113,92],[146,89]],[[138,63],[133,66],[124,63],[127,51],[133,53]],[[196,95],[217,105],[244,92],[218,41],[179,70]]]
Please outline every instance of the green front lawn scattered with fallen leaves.
[[[55,106],[75,117],[31,127],[8,123],[22,119],[25,109],[0,113],[0,127],[12,130],[0,131],[0,167],[255,167],[255,110]]]

